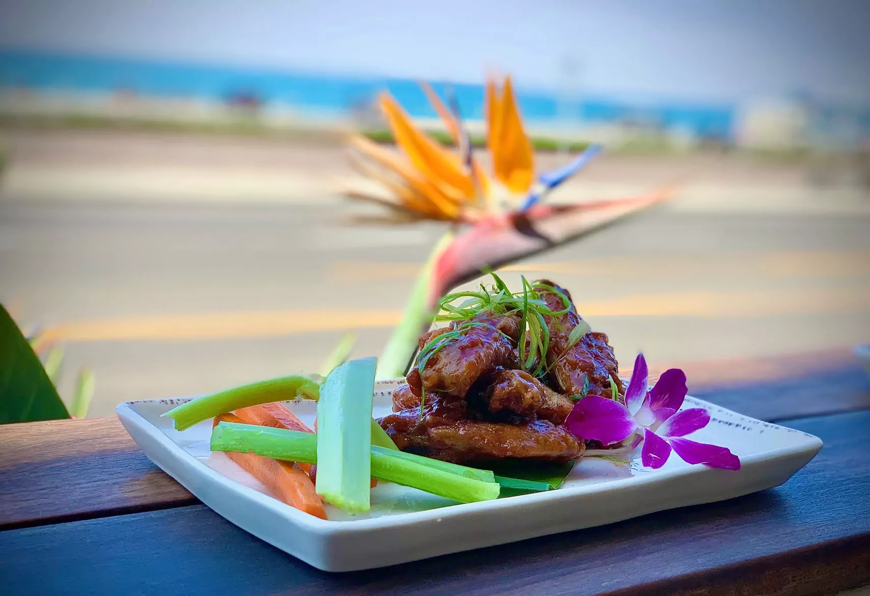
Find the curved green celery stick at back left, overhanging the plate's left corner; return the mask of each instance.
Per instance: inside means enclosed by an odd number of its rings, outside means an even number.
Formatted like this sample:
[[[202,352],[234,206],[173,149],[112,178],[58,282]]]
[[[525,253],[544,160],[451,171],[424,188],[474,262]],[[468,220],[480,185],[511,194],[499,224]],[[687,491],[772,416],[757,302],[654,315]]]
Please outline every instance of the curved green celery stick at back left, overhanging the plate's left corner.
[[[214,418],[224,412],[298,397],[317,399],[319,392],[318,384],[307,377],[294,375],[272,378],[268,381],[258,381],[251,383],[251,385],[242,385],[235,389],[191,399],[186,404],[172,408],[163,415],[175,421],[177,431],[184,431],[185,428],[190,428],[197,422]]]

